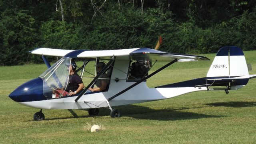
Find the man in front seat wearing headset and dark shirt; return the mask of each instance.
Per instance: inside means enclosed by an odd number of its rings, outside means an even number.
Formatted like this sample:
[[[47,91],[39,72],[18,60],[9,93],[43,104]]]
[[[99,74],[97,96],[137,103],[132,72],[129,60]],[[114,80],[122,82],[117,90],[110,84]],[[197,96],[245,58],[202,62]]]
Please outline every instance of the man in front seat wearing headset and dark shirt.
[[[62,96],[72,96],[82,92],[84,88],[82,78],[80,78],[80,76],[76,73],[76,62],[71,62],[70,65],[68,64],[67,70],[69,71],[68,80],[63,88],[58,88],[56,90],[56,98],[58,97],[58,93]],[[64,88],[66,88],[65,91]]]

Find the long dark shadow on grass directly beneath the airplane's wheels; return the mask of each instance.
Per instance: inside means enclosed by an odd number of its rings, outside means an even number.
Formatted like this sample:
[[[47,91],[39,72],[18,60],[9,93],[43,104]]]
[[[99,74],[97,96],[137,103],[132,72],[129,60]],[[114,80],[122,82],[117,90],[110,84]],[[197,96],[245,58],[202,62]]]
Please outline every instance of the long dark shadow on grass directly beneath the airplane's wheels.
[[[208,107],[208,106],[205,106]],[[194,108],[179,108],[179,109],[160,109],[155,110],[144,106],[136,105],[126,105],[126,106],[116,106],[122,112],[122,116],[128,116],[136,119],[146,119],[146,120],[189,120],[189,119],[200,119],[200,118],[220,118],[223,116],[198,114],[194,112],[181,112],[179,110],[194,109]],[[204,108],[204,107],[197,107]],[[109,116],[110,110],[107,108],[100,108],[100,112],[96,116]],[[68,119],[68,118],[88,118],[93,116],[78,116],[73,110],[68,110],[72,116],[62,117],[62,118],[46,118],[45,120],[57,120],[57,119]],[[86,110],[85,110],[86,111]],[[87,113],[85,113],[87,114]],[[104,117],[105,118],[105,117]],[[110,117],[109,117],[110,118]]]

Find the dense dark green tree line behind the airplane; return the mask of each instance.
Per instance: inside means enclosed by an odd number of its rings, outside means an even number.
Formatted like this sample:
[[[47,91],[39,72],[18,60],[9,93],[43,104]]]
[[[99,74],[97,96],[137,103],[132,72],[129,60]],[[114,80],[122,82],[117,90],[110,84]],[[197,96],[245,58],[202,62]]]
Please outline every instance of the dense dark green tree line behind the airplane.
[[[256,48],[255,0],[0,0],[0,66],[41,63],[35,48]]]

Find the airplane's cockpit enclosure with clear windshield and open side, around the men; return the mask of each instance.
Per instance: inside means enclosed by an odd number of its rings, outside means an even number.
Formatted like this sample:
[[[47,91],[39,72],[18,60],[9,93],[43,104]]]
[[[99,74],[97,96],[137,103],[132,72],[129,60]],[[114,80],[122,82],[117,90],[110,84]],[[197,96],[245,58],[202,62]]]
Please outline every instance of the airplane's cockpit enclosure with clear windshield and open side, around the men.
[[[76,61],[76,73],[82,79],[84,86],[88,86],[92,80],[97,75],[96,65],[98,63],[108,63],[108,60],[94,59],[78,59],[78,58],[61,58],[55,64],[53,64],[48,70],[42,73],[39,78],[43,80],[43,94],[46,99],[56,99],[64,98],[69,96],[78,96],[78,94],[69,95],[68,94],[68,83],[72,78],[70,75],[70,66],[72,67],[72,62]],[[106,80],[110,80],[112,72],[112,67],[110,66],[105,70],[104,77]],[[101,78],[102,79],[102,78]],[[108,82],[109,86],[109,82]],[[104,91],[108,91],[108,86]],[[94,85],[90,87],[95,87]],[[60,90],[61,89],[61,90]],[[81,91],[82,92],[82,91]],[[81,93],[79,92],[79,94]],[[90,93],[90,91],[86,92]]]

